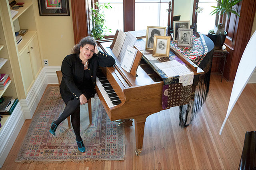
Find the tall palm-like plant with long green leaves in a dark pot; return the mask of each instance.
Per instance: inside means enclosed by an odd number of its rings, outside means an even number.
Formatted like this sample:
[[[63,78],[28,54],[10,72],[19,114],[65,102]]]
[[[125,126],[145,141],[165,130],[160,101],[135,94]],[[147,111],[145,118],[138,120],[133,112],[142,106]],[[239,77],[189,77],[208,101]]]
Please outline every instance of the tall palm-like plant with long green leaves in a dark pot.
[[[214,15],[216,14],[218,18],[219,15],[222,15],[222,23],[219,23],[218,25],[215,25],[217,27],[216,31],[214,31],[217,35],[224,35],[225,26],[226,26],[226,17],[228,15],[228,19],[230,18],[230,14],[236,14],[238,17],[239,14],[236,12],[236,8],[232,8],[234,5],[236,5],[238,2],[242,0],[216,0],[218,2],[217,6],[212,6],[215,8],[210,14]],[[218,23],[218,19],[217,22]]]

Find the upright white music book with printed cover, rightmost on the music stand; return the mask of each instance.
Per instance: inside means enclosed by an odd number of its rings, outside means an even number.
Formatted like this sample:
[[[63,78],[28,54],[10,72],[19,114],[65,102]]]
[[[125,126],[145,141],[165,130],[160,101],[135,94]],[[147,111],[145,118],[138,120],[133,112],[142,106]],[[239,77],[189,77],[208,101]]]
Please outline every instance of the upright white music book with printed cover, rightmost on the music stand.
[[[127,72],[131,71],[137,52],[138,50],[134,49],[130,45],[127,46],[124,59],[121,64],[121,67],[124,68],[124,70]]]

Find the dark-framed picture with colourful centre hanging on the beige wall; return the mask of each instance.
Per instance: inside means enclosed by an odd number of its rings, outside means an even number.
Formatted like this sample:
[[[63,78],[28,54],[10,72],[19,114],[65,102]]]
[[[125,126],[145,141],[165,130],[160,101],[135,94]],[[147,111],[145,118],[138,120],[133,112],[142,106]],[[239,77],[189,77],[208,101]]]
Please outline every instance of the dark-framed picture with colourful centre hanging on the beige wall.
[[[68,0],[38,0],[40,16],[70,16]]]

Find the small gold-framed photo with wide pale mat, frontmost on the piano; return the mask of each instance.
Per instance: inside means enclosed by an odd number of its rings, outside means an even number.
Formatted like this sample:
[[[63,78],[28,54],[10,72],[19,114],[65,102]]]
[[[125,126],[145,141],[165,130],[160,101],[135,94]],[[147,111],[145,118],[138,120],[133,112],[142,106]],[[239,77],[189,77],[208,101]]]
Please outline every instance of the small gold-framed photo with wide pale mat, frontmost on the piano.
[[[154,48],[152,55],[154,57],[169,57],[171,37],[154,36]]]

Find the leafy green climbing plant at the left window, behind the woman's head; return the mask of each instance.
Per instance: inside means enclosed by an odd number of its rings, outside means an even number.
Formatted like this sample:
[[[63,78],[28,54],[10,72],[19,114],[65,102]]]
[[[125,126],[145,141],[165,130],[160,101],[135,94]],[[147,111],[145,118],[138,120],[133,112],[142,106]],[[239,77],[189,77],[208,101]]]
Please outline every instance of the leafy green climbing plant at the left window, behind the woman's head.
[[[99,4],[98,2],[96,2],[94,5],[97,7],[96,9],[92,8],[92,36],[94,37],[94,39],[103,39],[104,38],[104,32],[106,31],[110,31],[111,29],[108,29],[104,24],[106,22],[105,20],[105,14],[103,12],[104,9],[108,9],[108,8],[112,8],[110,5],[110,3],[108,4]]]

